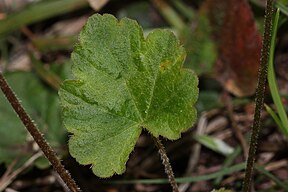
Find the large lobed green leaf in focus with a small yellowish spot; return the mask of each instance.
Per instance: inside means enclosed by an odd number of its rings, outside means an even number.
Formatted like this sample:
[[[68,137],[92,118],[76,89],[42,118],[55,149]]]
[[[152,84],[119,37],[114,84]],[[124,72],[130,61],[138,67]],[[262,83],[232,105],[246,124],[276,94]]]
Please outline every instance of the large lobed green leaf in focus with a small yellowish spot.
[[[60,89],[69,151],[99,177],[121,174],[145,128],[178,139],[196,120],[198,79],[168,30],[146,39],[137,22],[95,14],[72,53],[73,80]]]

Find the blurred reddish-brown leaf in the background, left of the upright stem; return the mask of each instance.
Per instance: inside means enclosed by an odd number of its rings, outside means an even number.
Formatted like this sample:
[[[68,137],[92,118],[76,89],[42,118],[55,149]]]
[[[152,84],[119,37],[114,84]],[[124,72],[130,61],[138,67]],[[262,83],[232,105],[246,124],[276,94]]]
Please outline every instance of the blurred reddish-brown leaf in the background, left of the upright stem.
[[[236,96],[255,93],[261,35],[246,0],[207,0],[212,33],[218,44],[217,79]]]

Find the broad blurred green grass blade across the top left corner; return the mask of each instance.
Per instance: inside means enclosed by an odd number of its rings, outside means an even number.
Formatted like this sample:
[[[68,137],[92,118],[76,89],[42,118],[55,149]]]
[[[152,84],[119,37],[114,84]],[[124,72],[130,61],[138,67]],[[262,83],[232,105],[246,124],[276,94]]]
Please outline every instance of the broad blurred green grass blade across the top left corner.
[[[7,35],[22,26],[86,6],[88,6],[86,0],[53,0],[35,3],[20,12],[9,15],[4,20],[0,20],[0,36]]]

